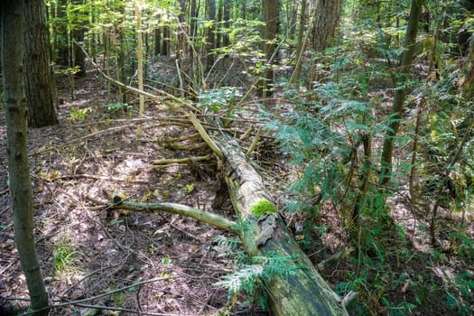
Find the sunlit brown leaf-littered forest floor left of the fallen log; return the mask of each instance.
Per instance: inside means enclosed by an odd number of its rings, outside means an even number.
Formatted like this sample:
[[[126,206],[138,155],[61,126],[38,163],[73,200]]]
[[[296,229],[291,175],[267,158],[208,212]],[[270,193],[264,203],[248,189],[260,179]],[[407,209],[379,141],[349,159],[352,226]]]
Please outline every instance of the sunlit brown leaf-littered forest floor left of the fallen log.
[[[51,313],[108,314],[86,306],[103,305],[124,309],[122,315],[139,311],[142,315],[216,314],[228,297],[227,290],[214,284],[233,268],[227,249],[215,240],[225,232],[192,218],[127,214],[97,207],[89,200],[107,200],[118,194],[131,201],[168,201],[211,210],[219,194],[212,159],[199,165],[153,163],[201,156],[210,150],[205,146],[170,148],[166,139],[194,134],[189,124],[181,125],[179,116],[153,102],[147,102],[148,119],[133,120],[135,110],[117,108],[117,100],[97,76],[88,72],[86,78],[78,79],[74,99],[68,86],[62,87],[60,125],[29,130],[36,245],[45,282],[51,300],[60,304],[155,281],[82,302],[82,306],[58,307]],[[0,117],[0,147],[5,148],[3,110]],[[170,125],[168,119],[174,119],[176,125]],[[143,127],[140,137],[136,137],[138,125]],[[186,142],[190,140],[183,139],[181,144]],[[192,142],[191,138],[189,144]],[[0,293],[24,298],[27,289],[14,246],[6,162],[2,150]],[[234,218],[228,200],[219,204],[221,215]],[[251,307],[239,312],[261,314]]]

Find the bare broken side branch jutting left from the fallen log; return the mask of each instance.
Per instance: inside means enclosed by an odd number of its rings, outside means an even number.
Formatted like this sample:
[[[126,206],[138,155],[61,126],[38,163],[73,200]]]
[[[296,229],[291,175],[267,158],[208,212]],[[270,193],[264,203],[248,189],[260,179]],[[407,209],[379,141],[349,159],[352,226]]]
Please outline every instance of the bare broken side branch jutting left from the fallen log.
[[[178,214],[189,218],[198,219],[201,222],[212,225],[216,228],[224,229],[233,233],[239,232],[239,226],[235,221],[229,220],[217,214],[202,210],[194,209],[186,205],[178,203],[142,203],[122,201],[120,197],[114,197],[114,209],[128,209],[135,211],[144,211],[157,213],[160,211]]]

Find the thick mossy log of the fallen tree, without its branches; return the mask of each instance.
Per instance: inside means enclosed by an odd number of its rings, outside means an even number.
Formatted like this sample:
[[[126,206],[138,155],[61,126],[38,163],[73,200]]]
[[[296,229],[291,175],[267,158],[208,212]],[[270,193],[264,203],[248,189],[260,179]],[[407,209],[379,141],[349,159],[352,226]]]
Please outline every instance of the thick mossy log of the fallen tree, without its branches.
[[[274,277],[265,287],[275,316],[348,315],[311,260],[305,256],[274,208],[260,175],[246,161],[237,142],[223,135],[218,146],[224,156],[225,180],[232,204],[245,229],[241,239],[252,256],[296,256],[303,267],[288,277]]]

